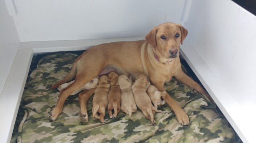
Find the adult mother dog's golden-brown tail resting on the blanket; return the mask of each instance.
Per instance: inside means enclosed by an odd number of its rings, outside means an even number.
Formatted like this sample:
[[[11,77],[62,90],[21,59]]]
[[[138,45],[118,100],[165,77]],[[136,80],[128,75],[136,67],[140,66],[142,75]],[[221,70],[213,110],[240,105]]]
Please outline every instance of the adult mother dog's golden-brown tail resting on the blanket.
[[[68,73],[68,75],[63,78],[62,80],[56,82],[51,89],[55,89],[57,87],[59,87],[61,84],[64,84],[64,83],[67,83],[67,82],[70,82],[71,80],[73,80],[76,76],[76,72],[77,72],[77,62],[74,63],[71,71]]]

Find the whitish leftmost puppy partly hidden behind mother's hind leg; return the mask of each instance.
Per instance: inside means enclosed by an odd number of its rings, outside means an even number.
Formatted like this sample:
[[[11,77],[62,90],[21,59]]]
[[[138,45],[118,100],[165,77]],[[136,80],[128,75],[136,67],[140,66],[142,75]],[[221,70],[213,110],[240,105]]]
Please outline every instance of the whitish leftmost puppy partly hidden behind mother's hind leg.
[[[75,94],[77,94],[78,92],[80,92],[82,90],[89,90],[91,88],[96,88],[96,86],[98,85],[99,79],[100,79],[100,76],[96,76],[93,80],[91,80],[90,82],[84,84],[82,87],[80,87],[79,89],[77,89],[76,91],[74,91],[70,95],[75,95]],[[68,83],[61,84],[58,87],[58,90],[60,91],[60,90],[62,90],[64,88],[66,88],[68,85],[72,84],[73,82],[74,82],[74,80],[72,80],[71,82],[68,82]]]

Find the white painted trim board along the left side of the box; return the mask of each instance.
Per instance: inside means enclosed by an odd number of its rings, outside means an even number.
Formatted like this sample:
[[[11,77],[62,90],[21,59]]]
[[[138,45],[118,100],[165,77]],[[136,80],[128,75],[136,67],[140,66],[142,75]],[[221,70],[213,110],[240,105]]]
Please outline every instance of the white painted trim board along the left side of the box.
[[[18,50],[4,85],[0,96],[0,143],[10,143],[32,57],[32,49]]]

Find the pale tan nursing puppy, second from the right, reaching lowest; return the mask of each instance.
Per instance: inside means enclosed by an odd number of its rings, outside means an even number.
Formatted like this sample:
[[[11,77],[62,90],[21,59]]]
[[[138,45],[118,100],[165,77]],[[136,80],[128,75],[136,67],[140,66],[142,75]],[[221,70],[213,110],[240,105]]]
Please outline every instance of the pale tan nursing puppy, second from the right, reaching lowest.
[[[147,77],[143,74],[137,76],[134,84],[132,85],[132,92],[134,95],[134,100],[138,108],[142,111],[144,116],[148,118],[152,124],[155,124],[154,119],[156,109],[151,103],[151,100],[146,93],[146,89],[150,85]]]

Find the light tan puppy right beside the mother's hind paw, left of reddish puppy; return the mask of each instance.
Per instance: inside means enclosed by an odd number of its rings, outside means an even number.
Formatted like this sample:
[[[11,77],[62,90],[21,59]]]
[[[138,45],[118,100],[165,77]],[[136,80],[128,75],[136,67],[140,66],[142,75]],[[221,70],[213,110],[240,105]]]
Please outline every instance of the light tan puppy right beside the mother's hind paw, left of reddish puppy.
[[[107,75],[100,76],[100,81],[95,89],[94,97],[92,98],[92,118],[100,119],[102,123],[108,107],[108,92],[110,90],[109,78]]]

